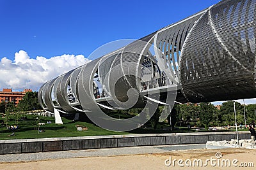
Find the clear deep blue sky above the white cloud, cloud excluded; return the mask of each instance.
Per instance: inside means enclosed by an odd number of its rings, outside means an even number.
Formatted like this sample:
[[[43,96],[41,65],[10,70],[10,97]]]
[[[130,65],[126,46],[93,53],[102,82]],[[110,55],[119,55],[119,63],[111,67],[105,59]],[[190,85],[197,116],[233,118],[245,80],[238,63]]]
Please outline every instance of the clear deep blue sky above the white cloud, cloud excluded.
[[[0,57],[24,50],[47,59],[90,55],[116,39],[138,39],[218,1],[0,1]]]

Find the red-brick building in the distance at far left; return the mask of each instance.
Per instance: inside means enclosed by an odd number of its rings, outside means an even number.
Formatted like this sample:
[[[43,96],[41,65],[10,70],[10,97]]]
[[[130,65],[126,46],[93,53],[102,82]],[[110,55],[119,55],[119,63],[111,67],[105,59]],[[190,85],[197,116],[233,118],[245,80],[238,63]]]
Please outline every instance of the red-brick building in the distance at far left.
[[[13,92],[12,89],[3,89],[3,91],[0,91],[0,102],[4,101],[5,103],[8,103],[8,101],[10,101],[17,106],[25,96],[26,92],[32,92],[32,90],[24,89],[23,92]]]

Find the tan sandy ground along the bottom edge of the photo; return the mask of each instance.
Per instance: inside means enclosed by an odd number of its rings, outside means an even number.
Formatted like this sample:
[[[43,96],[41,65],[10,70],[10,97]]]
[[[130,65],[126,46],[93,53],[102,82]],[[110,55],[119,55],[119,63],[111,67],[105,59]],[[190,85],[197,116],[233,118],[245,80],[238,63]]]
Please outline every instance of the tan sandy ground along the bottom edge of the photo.
[[[222,154],[221,158],[216,157],[216,153]],[[184,167],[181,167],[175,162],[175,165],[169,164],[172,158],[183,162]],[[248,150],[243,148],[228,148],[222,150],[178,150],[166,153],[152,153],[152,154],[139,154],[139,155],[122,155],[111,157],[83,157],[72,159],[55,159],[55,160],[42,160],[35,162],[15,162],[15,163],[1,163],[0,169],[255,169],[256,167],[256,150]],[[198,167],[196,164],[193,166],[195,159],[201,159],[203,167]],[[211,162],[207,162],[207,166],[204,167],[205,160],[212,159]],[[215,161],[213,160],[215,159]],[[221,166],[221,162],[230,160],[230,166],[224,163]],[[237,160],[237,162],[236,162]],[[192,166],[189,165],[191,161]],[[232,165],[234,161],[234,166]],[[220,162],[218,164],[218,162]],[[252,162],[250,166],[253,167],[241,167],[246,166],[246,163]],[[242,163],[242,164],[241,164]],[[245,163],[245,164],[244,164]],[[187,165],[186,165],[187,164]],[[215,165],[214,165],[215,164]],[[237,166],[236,166],[237,165]],[[247,164],[247,166],[249,166]]]

